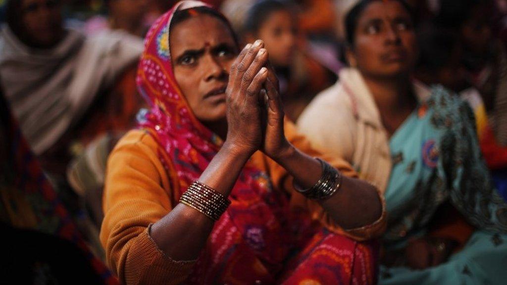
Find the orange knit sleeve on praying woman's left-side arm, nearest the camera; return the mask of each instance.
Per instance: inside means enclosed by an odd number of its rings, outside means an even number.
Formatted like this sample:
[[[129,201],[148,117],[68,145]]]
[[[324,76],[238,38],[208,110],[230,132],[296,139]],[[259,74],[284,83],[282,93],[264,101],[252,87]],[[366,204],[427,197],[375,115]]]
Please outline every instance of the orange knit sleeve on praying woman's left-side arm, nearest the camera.
[[[120,140],[108,160],[100,240],[108,266],[123,284],[177,284],[195,264],[164,256],[150,237],[150,225],[173,207],[156,153],[155,140],[136,130]]]

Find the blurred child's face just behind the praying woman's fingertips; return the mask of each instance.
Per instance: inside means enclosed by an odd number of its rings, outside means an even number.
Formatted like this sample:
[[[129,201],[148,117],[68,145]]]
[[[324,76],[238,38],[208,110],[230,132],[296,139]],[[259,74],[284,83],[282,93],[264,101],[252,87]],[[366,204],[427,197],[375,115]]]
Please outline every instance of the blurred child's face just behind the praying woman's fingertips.
[[[296,49],[296,30],[296,21],[288,11],[272,12],[259,28],[258,38],[264,41],[274,66],[291,64]]]

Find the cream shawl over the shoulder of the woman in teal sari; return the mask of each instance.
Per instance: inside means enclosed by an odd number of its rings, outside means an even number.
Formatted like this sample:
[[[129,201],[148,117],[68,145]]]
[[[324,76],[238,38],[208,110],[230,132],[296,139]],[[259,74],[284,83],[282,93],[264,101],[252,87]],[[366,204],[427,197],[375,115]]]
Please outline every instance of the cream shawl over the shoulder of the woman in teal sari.
[[[414,83],[419,100],[429,90]],[[363,76],[343,68],[340,81],[318,94],[298,120],[298,130],[314,149],[347,160],[359,177],[384,193],[391,173],[389,139]]]

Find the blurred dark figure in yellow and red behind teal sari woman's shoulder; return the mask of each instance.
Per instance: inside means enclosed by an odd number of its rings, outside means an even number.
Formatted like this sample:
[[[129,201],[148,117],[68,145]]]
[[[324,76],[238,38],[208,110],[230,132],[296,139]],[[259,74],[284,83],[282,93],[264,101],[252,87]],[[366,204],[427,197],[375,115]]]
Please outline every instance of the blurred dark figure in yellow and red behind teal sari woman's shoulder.
[[[426,85],[441,84],[465,100],[474,111],[477,136],[495,186],[507,200],[507,148],[501,146],[479,91],[470,83],[462,63],[462,44],[454,30],[427,25],[418,32],[420,56],[415,72]]]

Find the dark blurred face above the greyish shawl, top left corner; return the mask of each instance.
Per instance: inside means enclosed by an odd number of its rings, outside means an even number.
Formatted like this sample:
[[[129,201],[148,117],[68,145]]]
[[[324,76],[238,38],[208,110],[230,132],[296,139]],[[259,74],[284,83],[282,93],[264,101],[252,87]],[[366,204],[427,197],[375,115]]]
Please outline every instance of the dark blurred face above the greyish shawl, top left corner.
[[[63,37],[59,0],[22,0],[20,35],[34,47],[49,48]]]

